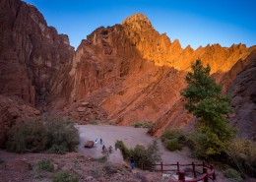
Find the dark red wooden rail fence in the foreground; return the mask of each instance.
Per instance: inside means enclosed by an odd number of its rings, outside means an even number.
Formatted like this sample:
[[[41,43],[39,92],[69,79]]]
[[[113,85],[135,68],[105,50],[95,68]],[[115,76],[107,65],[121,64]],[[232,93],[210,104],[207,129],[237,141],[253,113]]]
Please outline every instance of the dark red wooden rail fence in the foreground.
[[[178,180],[176,182],[217,182],[214,166],[208,165],[205,162],[201,164],[194,162],[191,164],[180,164],[179,162],[175,164],[163,164],[160,162],[144,168],[154,168],[155,171],[160,172],[175,172],[178,174]],[[194,179],[185,180],[186,174],[192,175]],[[171,182],[175,181],[172,180]]]

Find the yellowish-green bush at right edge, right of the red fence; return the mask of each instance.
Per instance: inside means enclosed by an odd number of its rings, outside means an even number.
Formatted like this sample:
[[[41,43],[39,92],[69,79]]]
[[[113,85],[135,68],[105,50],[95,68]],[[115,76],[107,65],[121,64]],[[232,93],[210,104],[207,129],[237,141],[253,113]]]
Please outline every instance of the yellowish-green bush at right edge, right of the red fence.
[[[256,177],[256,144],[248,140],[233,139],[229,142],[227,154],[228,162],[241,173]]]

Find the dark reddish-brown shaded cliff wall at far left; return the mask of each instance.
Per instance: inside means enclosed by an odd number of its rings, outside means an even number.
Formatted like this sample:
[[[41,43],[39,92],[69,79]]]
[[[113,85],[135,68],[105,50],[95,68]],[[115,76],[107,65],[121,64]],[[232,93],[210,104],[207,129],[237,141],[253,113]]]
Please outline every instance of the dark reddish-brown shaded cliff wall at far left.
[[[32,5],[1,0],[0,12],[0,94],[34,105],[50,91],[53,75],[72,60],[74,48]]]

